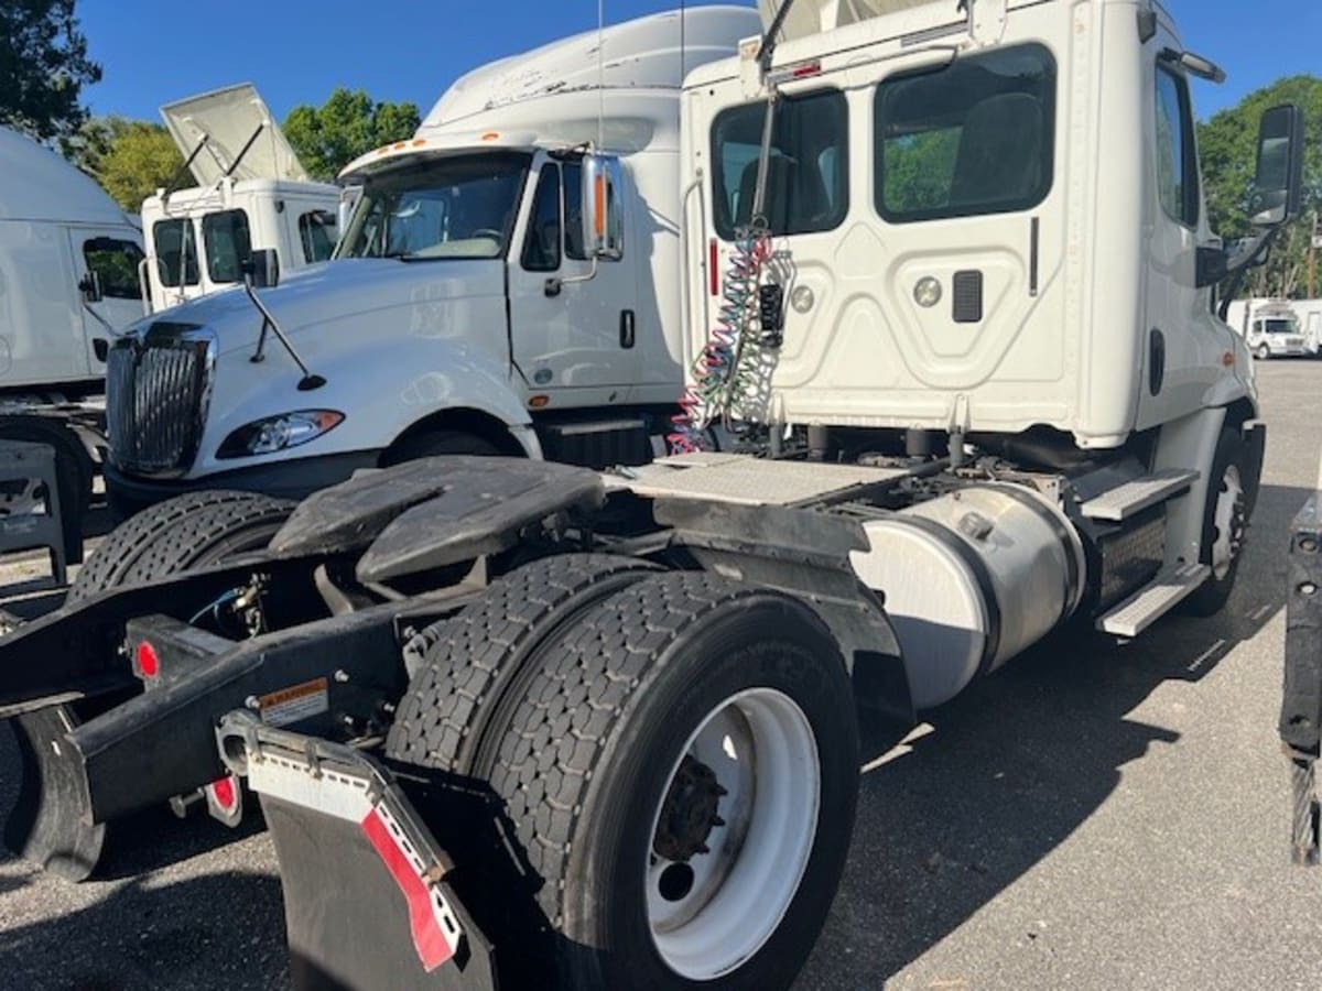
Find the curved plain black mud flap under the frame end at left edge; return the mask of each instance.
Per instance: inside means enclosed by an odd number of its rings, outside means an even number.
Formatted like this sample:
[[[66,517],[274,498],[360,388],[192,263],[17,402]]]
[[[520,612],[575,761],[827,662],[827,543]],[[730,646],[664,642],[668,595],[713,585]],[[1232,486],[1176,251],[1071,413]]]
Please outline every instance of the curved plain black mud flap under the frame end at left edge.
[[[85,881],[106,844],[106,825],[91,822],[82,756],[67,740],[78,725],[69,706],[50,706],[11,720],[19,740],[22,781],[5,823],[15,854],[70,881]]]

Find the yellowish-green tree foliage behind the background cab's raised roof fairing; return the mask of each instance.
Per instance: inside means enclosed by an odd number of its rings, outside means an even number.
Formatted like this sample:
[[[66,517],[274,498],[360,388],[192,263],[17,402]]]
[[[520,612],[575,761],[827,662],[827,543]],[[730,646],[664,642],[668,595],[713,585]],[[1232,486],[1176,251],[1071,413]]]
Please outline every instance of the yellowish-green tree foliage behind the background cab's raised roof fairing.
[[[65,156],[131,213],[184,165],[169,132],[147,120],[91,118],[62,144]]]

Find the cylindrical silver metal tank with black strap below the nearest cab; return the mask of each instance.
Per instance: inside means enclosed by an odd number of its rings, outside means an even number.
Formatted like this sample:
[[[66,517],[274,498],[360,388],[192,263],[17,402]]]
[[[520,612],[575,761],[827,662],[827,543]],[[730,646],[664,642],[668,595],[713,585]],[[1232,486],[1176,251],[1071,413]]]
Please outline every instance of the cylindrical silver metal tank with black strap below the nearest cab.
[[[914,704],[958,695],[1077,608],[1087,564],[1069,519],[1023,486],[973,484],[863,525],[854,571],[884,596]]]

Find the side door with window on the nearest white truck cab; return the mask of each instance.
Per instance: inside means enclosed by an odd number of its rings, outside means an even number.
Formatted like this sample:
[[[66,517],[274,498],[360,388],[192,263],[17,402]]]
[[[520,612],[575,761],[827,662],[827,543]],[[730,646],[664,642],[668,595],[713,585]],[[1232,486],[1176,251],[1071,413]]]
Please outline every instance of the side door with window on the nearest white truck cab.
[[[1151,189],[1145,197],[1150,237],[1140,429],[1202,408],[1207,390],[1227,374],[1223,358],[1233,350],[1231,332],[1212,316],[1211,288],[1198,288],[1198,248],[1216,242],[1203,207],[1192,103],[1185,73],[1157,54],[1179,45],[1158,33],[1149,48],[1151,123],[1145,144]]]

